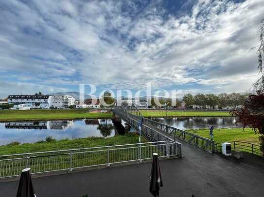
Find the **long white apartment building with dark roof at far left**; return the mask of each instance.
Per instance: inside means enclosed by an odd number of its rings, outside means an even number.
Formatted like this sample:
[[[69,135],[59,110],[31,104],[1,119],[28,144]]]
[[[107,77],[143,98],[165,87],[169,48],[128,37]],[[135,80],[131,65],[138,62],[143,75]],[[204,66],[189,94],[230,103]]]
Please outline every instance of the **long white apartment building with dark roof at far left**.
[[[14,108],[19,107],[38,107],[38,108],[49,108],[49,96],[48,95],[9,95],[7,97],[8,104],[13,104]],[[22,105],[26,104],[26,105]]]

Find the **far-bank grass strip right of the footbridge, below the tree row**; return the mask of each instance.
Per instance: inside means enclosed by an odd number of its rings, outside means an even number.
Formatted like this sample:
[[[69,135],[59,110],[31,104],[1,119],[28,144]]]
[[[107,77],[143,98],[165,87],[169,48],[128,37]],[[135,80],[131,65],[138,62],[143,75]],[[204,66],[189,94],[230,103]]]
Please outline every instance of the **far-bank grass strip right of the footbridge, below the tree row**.
[[[164,117],[166,110],[141,110],[144,117]],[[169,111],[170,117],[202,117],[202,116],[230,116],[229,112],[221,111]]]

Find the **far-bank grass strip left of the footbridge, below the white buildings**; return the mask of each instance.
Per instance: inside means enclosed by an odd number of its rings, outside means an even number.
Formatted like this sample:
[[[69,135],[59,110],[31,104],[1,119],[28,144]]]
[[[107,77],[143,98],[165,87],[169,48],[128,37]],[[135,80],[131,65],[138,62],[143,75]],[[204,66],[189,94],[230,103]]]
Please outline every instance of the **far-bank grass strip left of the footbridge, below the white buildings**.
[[[111,113],[89,113],[88,109],[0,110],[0,121],[37,121],[111,118]]]

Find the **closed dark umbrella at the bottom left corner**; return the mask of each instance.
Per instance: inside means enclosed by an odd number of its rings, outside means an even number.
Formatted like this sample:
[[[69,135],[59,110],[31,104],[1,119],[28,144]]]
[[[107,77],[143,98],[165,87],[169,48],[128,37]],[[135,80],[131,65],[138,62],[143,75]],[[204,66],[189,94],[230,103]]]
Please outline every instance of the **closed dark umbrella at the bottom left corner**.
[[[36,197],[31,179],[30,168],[22,170],[18,185],[17,197]]]

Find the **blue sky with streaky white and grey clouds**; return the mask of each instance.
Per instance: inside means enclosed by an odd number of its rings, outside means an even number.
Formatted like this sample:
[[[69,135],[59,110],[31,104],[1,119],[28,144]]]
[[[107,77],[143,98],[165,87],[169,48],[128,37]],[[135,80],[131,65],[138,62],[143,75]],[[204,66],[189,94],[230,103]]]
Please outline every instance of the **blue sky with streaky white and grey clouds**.
[[[2,0],[0,98],[144,88],[242,92],[263,0]]]

